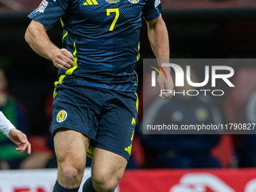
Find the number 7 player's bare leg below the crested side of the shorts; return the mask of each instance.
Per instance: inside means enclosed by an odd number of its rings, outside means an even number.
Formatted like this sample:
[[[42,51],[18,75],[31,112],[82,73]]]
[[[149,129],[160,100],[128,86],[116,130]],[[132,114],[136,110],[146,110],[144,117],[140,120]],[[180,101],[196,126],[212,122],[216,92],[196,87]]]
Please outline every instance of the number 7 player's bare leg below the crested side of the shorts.
[[[82,133],[65,128],[56,130],[53,139],[58,162],[57,182],[63,187],[62,191],[65,188],[75,189],[80,186],[84,175],[90,139]]]

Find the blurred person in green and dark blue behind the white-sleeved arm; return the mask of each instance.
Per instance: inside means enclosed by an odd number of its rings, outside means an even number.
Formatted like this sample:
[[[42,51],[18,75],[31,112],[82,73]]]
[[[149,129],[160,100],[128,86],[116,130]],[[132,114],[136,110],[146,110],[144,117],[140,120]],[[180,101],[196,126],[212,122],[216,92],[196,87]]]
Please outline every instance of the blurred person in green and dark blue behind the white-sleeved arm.
[[[28,135],[26,118],[15,99],[8,95],[8,81],[5,72],[0,69],[0,111],[17,127]],[[0,133],[0,169],[18,169],[26,157],[26,153],[15,151],[17,146],[3,133]]]

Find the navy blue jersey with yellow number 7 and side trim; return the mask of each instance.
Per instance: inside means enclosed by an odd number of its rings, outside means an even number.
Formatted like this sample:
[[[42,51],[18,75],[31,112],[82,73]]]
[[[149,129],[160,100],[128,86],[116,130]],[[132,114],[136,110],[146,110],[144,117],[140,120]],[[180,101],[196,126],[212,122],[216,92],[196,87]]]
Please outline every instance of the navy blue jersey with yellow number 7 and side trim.
[[[44,0],[29,18],[46,29],[61,19],[63,47],[75,56],[72,69],[59,69],[63,84],[135,92],[142,17],[161,11],[160,0]]]

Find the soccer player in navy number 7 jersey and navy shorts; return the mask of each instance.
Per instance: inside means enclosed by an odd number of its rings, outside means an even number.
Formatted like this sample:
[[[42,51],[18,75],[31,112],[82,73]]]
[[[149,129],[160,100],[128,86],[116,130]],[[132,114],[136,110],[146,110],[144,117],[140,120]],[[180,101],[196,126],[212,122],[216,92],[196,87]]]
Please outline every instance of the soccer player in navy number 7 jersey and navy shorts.
[[[58,176],[53,191],[76,192],[86,154],[92,177],[83,191],[114,191],[129,160],[138,111],[136,62],[142,17],[157,59],[169,62],[169,39],[160,0],[43,0],[29,18],[26,41],[59,68],[53,99]],[[62,45],[47,35],[57,20]],[[163,63],[163,62],[160,62]],[[158,78],[160,88],[172,90]],[[169,99],[172,95],[163,95]]]

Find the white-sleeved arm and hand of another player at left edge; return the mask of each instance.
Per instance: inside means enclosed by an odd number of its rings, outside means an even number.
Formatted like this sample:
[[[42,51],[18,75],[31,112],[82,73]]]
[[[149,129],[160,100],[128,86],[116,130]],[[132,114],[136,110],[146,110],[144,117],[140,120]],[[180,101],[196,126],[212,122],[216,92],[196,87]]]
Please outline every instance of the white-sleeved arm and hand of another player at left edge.
[[[20,130],[17,130],[14,125],[5,117],[5,114],[0,111],[0,130],[5,136],[8,136],[12,142],[14,142],[18,147],[16,151],[23,152],[27,149],[27,153],[31,154],[31,145],[26,139],[26,135]]]

